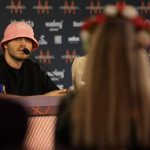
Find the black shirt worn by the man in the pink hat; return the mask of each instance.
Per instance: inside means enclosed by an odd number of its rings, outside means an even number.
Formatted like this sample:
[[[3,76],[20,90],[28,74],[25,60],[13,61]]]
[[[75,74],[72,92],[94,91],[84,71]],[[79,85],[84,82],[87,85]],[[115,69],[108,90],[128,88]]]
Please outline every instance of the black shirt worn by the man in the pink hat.
[[[3,55],[0,56],[0,84],[5,86],[6,94],[22,96],[40,95],[58,90],[39,64],[26,59],[20,69],[7,64]]]

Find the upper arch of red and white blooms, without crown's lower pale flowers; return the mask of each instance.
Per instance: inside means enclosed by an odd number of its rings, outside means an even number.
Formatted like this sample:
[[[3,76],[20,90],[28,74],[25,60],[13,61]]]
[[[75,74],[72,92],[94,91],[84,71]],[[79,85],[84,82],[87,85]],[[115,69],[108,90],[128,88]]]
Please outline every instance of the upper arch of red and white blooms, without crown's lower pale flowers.
[[[90,30],[99,24],[107,22],[110,17],[116,17],[117,15],[122,16],[131,22],[137,29],[145,29],[150,32],[150,23],[144,20],[139,14],[135,7],[125,4],[118,5],[107,5],[104,8],[103,14],[93,17],[92,19],[86,20],[81,30]]]

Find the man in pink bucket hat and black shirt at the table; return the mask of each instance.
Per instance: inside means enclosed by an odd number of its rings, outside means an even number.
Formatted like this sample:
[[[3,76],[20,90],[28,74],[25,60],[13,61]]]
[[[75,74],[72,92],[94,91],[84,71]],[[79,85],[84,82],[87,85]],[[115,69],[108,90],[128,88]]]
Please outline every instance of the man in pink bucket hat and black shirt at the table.
[[[9,24],[1,41],[4,52],[0,56],[0,84],[6,94],[14,95],[52,95],[60,96],[66,89],[59,88],[50,77],[40,69],[38,63],[28,59],[29,54],[39,47],[32,27],[25,22]]]

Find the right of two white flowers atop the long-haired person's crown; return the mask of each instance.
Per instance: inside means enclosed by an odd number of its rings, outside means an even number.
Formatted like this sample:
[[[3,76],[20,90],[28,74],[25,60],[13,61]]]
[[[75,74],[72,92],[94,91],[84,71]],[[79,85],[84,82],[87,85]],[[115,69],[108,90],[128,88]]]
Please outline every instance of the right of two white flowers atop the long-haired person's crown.
[[[133,6],[125,6],[125,8],[122,10],[122,16],[128,19],[134,19],[138,15],[138,11]]]

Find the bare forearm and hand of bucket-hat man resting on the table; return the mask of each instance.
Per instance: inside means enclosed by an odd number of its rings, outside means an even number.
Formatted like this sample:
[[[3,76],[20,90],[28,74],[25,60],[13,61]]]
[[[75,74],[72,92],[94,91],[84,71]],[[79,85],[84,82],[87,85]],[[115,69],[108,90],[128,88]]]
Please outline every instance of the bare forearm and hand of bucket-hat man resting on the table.
[[[64,96],[67,94],[67,92],[68,92],[67,89],[61,89],[61,90],[55,90],[52,92],[45,93],[44,95],[47,95],[47,96]]]

